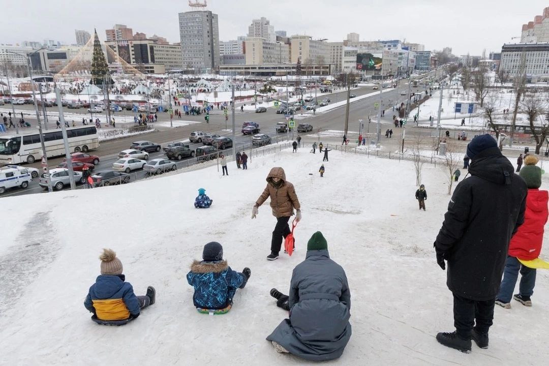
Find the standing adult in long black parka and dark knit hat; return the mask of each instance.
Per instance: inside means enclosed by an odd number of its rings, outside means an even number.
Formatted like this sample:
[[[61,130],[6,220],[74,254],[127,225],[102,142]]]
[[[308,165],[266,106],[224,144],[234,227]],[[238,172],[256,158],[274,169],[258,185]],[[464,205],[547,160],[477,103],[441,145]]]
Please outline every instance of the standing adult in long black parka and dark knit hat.
[[[526,206],[526,183],[514,174],[494,138],[475,137],[467,156],[471,176],[457,185],[434,243],[443,270],[448,261],[446,284],[453,293],[456,327],[436,340],[465,353],[471,350],[471,339],[488,348],[509,241],[524,222]]]

